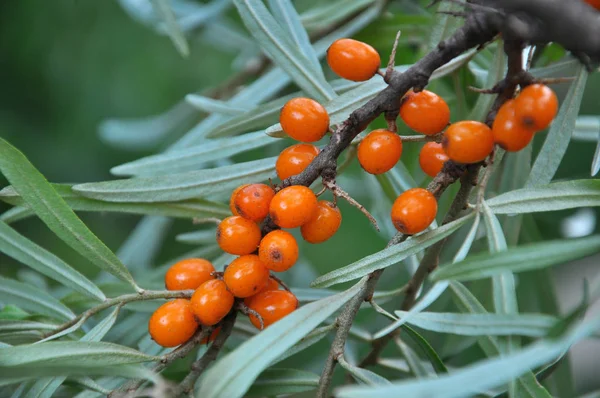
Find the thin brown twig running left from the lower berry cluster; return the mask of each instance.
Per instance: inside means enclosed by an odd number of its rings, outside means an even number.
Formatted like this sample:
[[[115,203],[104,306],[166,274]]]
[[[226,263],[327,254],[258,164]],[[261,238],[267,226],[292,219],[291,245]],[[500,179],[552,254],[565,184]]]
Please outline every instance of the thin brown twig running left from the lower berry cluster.
[[[90,308],[89,310],[82,312],[75,318],[68,322],[59,325],[56,329],[43,335],[44,338],[54,336],[71,326],[76,325],[78,322],[85,322],[87,319],[97,314],[98,312],[105,310],[115,305],[125,305],[134,301],[145,301],[145,300],[158,300],[158,299],[177,299],[177,298],[190,298],[194,293],[193,290],[143,290],[140,293],[124,294],[122,296],[109,298],[104,300],[102,303]]]

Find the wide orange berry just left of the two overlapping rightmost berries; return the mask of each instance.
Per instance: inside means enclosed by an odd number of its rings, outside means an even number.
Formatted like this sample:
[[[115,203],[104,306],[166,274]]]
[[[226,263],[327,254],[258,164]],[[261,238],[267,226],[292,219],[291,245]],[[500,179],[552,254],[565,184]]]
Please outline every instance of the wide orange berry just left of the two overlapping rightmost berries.
[[[494,149],[494,135],[492,129],[481,122],[462,121],[446,129],[442,146],[455,162],[477,163]]]

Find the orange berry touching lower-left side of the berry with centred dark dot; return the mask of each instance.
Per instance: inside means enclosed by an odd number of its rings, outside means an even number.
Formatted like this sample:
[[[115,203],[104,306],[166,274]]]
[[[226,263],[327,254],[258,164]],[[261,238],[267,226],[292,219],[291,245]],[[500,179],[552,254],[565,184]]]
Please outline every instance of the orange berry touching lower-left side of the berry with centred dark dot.
[[[248,254],[227,266],[223,281],[235,297],[250,297],[265,287],[269,281],[269,270],[256,254]]]

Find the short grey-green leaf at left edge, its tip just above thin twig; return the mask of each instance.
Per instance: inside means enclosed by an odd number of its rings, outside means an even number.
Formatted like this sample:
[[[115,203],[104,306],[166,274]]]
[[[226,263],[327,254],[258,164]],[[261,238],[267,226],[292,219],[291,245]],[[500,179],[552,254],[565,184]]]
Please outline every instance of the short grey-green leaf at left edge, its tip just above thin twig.
[[[48,293],[25,283],[0,277],[0,302],[14,304],[34,314],[70,320],[75,314]]]

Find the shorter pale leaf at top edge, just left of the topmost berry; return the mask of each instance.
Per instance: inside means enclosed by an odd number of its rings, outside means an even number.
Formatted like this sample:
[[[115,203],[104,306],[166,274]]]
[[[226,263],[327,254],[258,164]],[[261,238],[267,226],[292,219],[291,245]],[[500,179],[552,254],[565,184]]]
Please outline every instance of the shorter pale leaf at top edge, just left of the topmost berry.
[[[300,16],[292,2],[290,0],[269,0],[269,7],[271,8],[275,19],[279,22],[281,27],[289,33],[293,43],[298,46],[298,49],[310,62],[314,71],[320,75],[320,77],[325,79],[317,53],[310,44],[308,33],[306,32],[306,29],[304,29],[304,26],[302,26]]]

